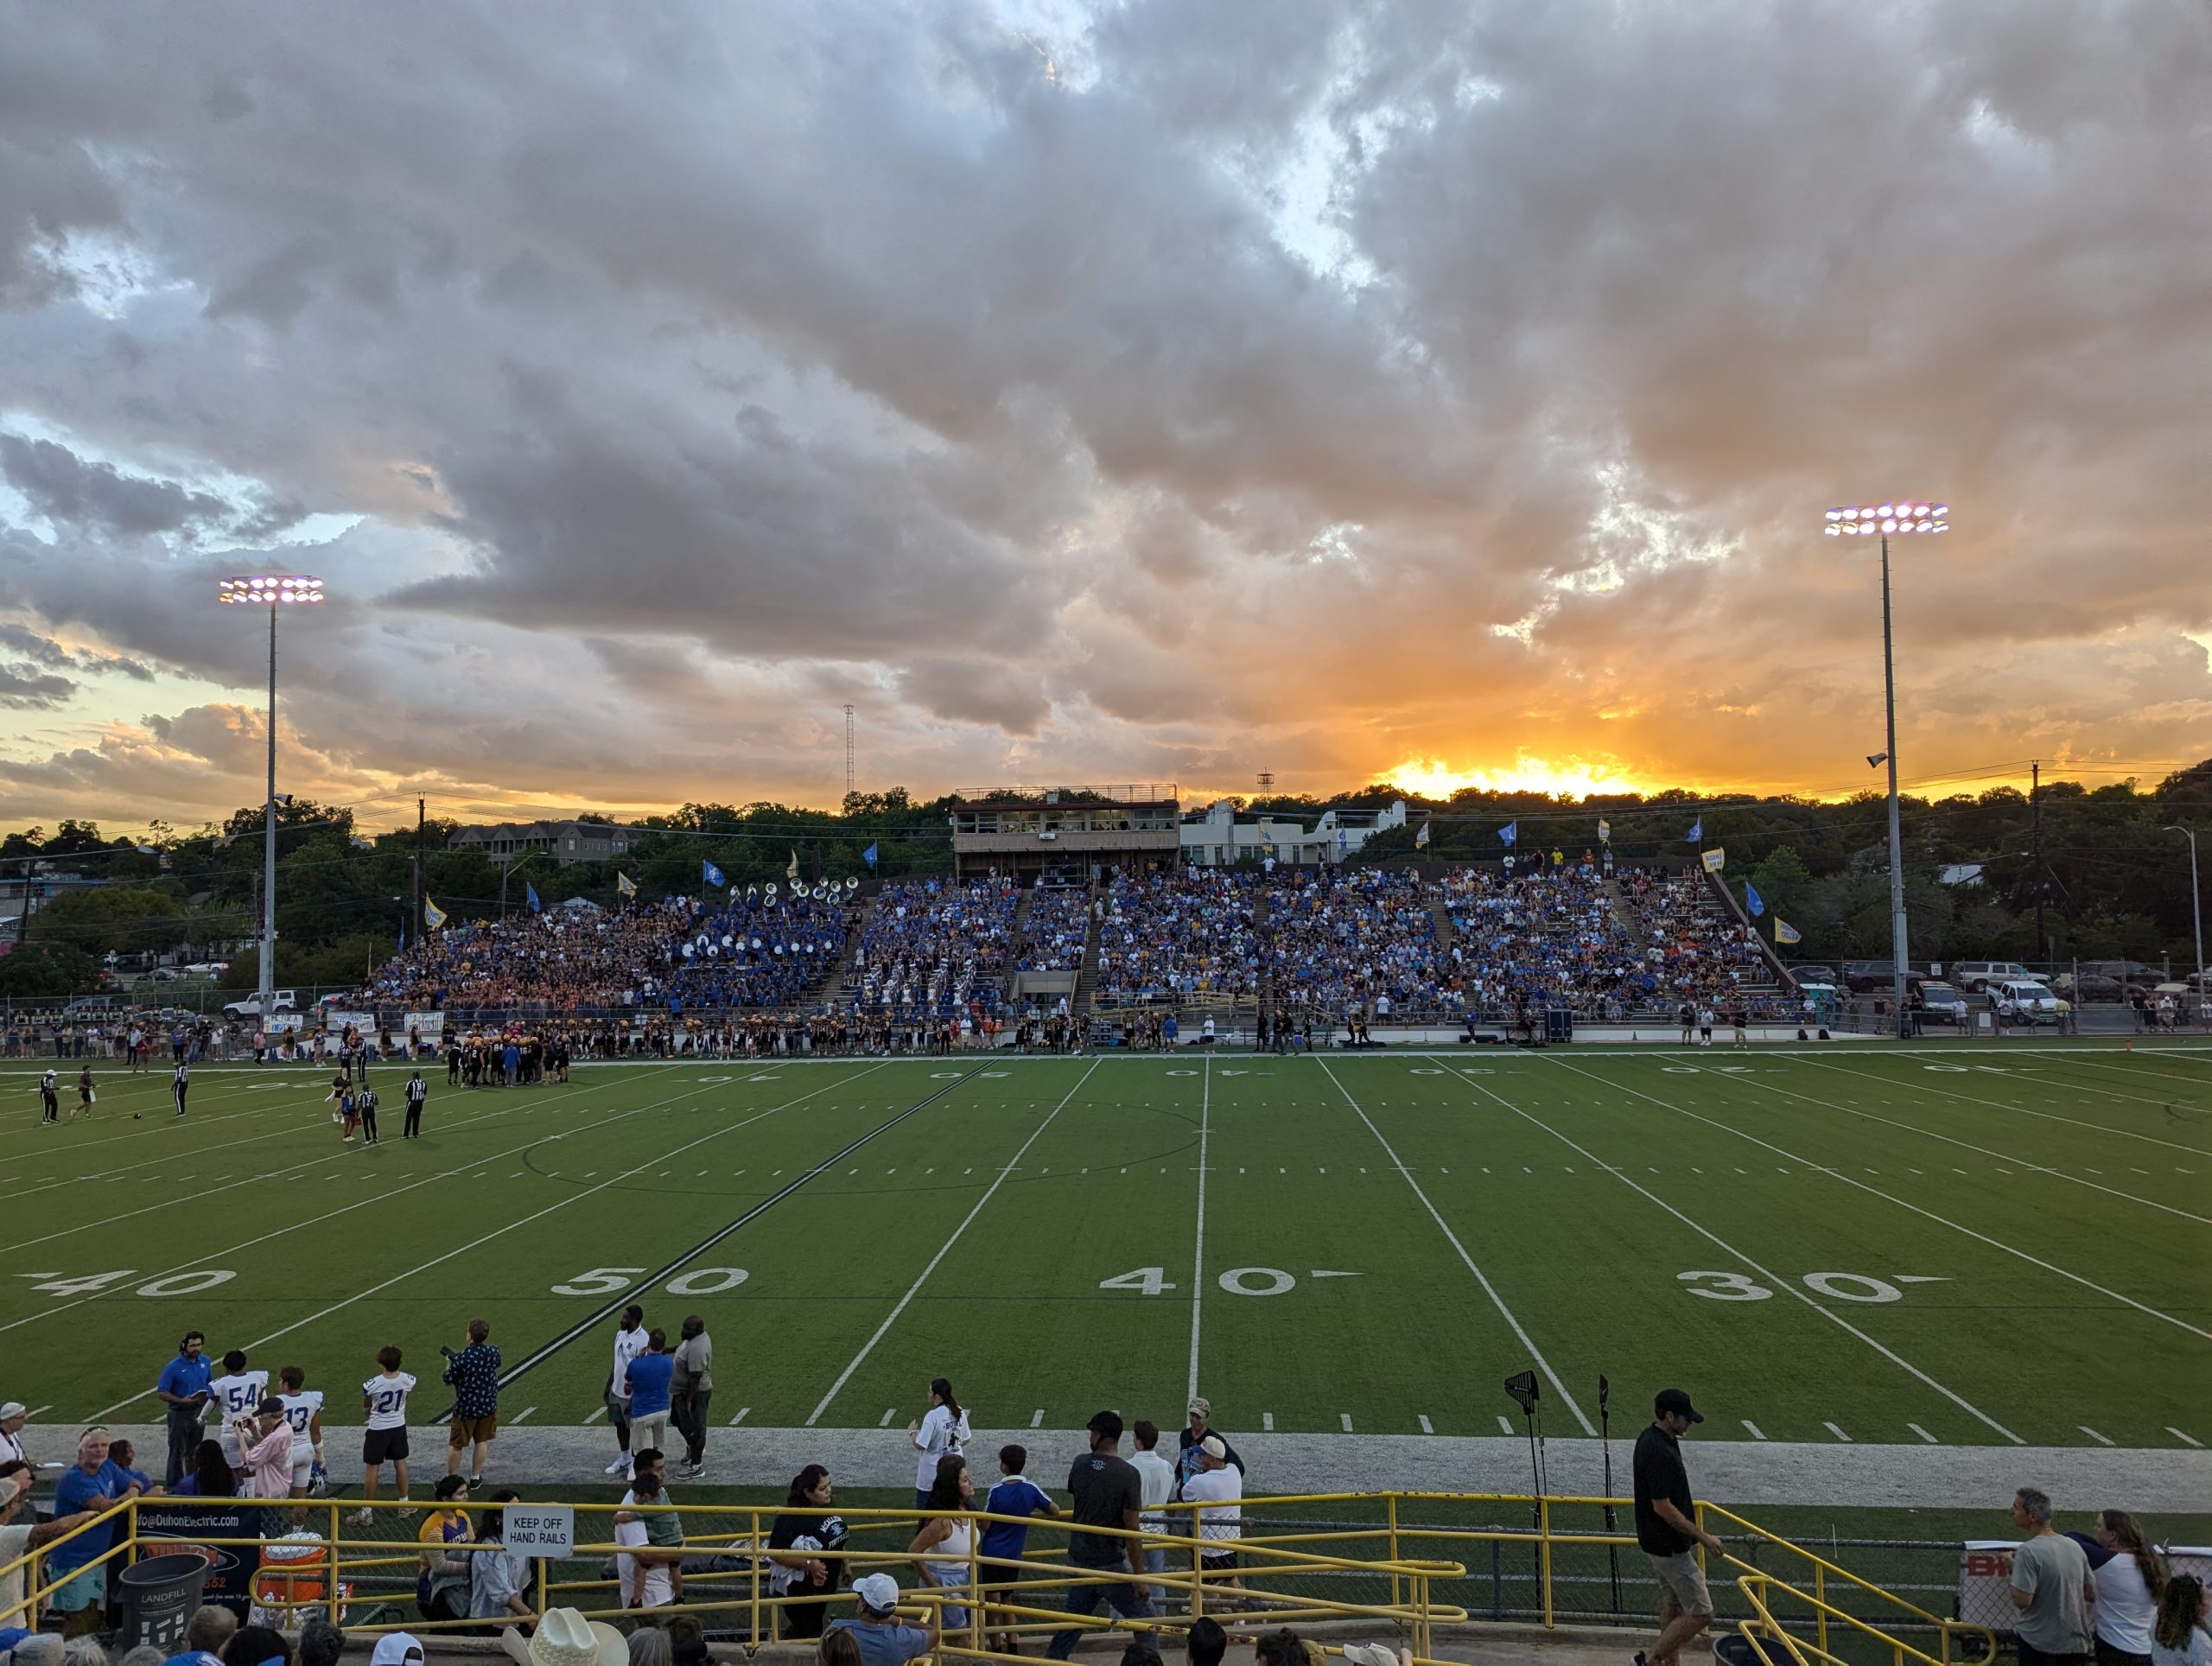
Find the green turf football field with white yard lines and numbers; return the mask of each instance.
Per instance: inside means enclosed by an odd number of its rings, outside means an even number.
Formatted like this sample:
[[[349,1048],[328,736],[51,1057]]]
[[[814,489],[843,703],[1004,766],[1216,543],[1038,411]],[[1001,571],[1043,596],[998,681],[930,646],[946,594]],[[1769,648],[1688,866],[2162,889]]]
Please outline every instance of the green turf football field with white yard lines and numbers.
[[[374,1352],[445,1409],[482,1314],[502,1420],[599,1416],[613,1312],[701,1312],[717,1423],[975,1427],[1099,1405],[1234,1429],[2212,1443],[2212,1051],[1825,1047],[580,1066],[467,1091],[0,1066],[0,1398],[150,1423],[186,1327],[358,1423]],[[64,1115],[75,1095],[66,1091]],[[144,1113],[133,1120],[133,1113]],[[1626,1418],[1626,1423],[1624,1423]],[[1517,1434],[1517,1420],[1506,1425]]]

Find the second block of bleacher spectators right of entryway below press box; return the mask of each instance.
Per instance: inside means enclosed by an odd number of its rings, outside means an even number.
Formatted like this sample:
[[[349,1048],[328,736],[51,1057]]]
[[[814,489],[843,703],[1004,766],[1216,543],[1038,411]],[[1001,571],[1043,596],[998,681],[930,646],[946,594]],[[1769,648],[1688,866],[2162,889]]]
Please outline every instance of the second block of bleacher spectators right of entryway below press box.
[[[1267,896],[1274,1002],[1296,1016],[1444,1007],[1449,960],[1411,870],[1285,870]]]

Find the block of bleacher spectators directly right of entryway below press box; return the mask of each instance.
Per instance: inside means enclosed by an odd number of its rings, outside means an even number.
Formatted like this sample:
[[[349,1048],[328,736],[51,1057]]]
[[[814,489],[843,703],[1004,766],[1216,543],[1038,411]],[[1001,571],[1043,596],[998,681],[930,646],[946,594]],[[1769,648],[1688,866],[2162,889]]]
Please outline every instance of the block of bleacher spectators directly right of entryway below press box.
[[[1095,996],[1104,1007],[1259,991],[1259,878],[1232,870],[1119,874],[1099,920]]]

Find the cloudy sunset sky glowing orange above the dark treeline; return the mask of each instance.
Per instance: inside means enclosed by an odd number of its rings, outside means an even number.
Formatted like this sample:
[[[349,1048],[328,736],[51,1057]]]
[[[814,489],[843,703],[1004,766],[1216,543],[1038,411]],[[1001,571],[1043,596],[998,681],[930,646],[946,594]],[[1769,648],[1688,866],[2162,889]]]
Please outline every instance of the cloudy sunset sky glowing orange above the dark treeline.
[[[2212,754],[2212,11],[0,2],[0,827]]]

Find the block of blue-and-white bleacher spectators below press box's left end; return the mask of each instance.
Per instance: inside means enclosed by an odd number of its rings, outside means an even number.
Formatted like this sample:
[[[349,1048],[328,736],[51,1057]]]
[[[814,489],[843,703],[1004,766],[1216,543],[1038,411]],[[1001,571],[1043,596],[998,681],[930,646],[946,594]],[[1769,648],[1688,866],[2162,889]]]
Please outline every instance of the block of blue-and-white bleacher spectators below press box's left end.
[[[845,993],[860,1013],[993,1013],[1022,887],[1009,878],[909,878],[883,887]]]

